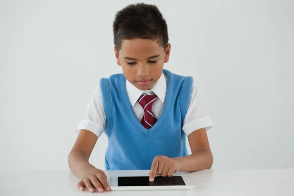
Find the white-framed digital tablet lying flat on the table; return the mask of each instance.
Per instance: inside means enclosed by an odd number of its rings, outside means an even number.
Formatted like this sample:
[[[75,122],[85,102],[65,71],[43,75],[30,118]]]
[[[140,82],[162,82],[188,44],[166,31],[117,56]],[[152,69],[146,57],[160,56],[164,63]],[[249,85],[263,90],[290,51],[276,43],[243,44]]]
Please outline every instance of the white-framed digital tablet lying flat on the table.
[[[155,177],[153,182],[149,176],[112,176],[109,179],[112,191],[123,190],[188,190],[194,185],[189,176]]]

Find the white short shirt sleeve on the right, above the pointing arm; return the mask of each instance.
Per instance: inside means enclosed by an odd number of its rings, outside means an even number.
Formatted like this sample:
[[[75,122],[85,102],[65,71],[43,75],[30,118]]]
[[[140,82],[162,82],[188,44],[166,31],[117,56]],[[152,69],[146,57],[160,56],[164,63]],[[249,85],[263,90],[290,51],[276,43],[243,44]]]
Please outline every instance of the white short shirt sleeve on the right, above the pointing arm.
[[[208,131],[212,126],[213,123],[210,117],[205,115],[204,111],[202,110],[197,89],[193,85],[189,107],[183,122],[183,131],[188,136],[193,131],[200,128],[206,128],[206,131]]]

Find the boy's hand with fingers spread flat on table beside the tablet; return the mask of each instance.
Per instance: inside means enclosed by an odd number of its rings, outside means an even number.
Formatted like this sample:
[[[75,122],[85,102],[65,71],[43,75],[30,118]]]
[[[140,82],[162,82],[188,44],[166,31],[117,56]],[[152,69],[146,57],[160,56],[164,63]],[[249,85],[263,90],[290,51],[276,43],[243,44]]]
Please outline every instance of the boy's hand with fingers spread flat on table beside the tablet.
[[[110,186],[107,183],[107,176],[102,170],[98,170],[93,165],[89,164],[81,170],[81,181],[77,183],[77,188],[84,191],[87,187],[89,192],[95,192],[95,188],[99,193],[103,193],[103,188],[110,191]]]

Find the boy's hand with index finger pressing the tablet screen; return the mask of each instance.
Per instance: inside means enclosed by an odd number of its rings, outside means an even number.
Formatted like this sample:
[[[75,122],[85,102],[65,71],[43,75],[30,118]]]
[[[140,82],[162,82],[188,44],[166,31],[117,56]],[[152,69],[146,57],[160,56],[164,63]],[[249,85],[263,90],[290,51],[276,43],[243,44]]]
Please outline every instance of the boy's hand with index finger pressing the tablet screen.
[[[167,156],[156,156],[153,159],[151,170],[149,172],[149,181],[153,182],[154,177],[162,175],[172,177],[173,173],[180,170],[180,161],[176,158]]]

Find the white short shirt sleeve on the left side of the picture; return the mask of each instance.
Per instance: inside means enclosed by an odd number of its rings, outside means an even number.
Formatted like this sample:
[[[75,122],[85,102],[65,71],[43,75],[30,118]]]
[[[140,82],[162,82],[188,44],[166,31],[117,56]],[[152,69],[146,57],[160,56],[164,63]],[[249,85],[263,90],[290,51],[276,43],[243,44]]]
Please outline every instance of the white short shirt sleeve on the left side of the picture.
[[[97,85],[95,92],[90,100],[84,118],[76,127],[78,133],[81,129],[87,129],[100,137],[104,132],[106,116],[103,109],[102,94],[100,85]]]

